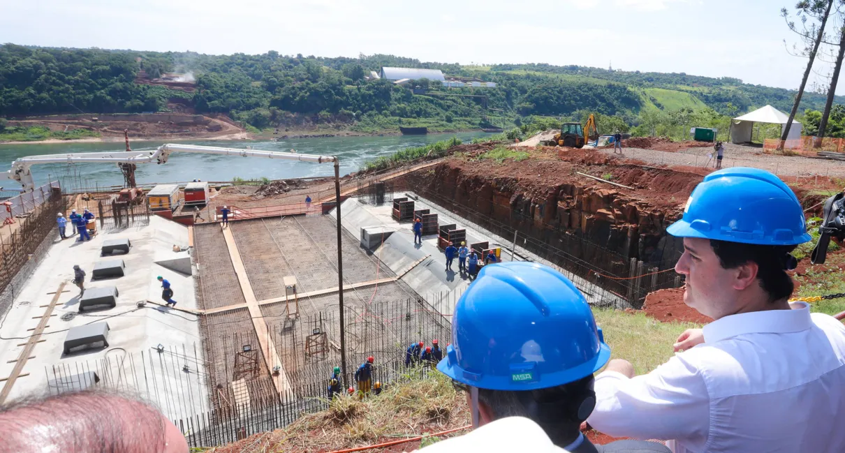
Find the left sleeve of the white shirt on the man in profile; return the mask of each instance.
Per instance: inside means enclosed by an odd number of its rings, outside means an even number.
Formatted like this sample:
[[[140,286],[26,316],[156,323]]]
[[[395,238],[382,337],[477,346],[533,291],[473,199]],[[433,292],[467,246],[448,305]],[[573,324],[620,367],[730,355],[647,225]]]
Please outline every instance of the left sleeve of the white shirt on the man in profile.
[[[700,371],[675,356],[649,374],[596,378],[596,409],[587,422],[613,437],[706,442],[710,400]]]

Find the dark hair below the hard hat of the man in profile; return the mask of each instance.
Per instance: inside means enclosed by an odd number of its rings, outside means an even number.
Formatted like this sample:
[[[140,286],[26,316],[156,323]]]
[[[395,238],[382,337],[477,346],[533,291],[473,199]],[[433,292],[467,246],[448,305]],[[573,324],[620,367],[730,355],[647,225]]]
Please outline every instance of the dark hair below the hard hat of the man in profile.
[[[723,269],[733,269],[749,262],[757,265],[757,280],[769,294],[769,302],[792,296],[795,289],[792,277],[786,270],[793,265],[792,252],[797,245],[757,245],[710,240],[713,252],[719,257]]]

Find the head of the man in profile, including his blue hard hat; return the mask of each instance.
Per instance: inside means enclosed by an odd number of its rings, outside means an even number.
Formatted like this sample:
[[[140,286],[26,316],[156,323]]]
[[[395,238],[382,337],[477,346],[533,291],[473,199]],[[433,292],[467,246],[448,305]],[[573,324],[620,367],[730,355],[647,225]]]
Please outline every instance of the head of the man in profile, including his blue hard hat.
[[[684,238],[675,270],[686,277],[684,303],[712,319],[786,308],[790,252],[810,240],[804,211],[777,176],[732,167],[704,178],[684,216],[667,232]]]

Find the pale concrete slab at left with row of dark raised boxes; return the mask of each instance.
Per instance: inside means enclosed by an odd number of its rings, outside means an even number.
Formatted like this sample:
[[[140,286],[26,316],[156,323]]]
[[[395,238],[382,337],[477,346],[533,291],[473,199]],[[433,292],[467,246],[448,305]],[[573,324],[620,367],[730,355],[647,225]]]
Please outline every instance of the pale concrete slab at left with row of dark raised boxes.
[[[101,314],[79,314],[79,293],[63,292],[53,312],[56,316],[50,318],[44,330],[45,341],[35,345],[31,354],[35,357],[22,370],[28,375],[17,379],[8,401],[54,392],[56,389],[49,387],[48,380],[71,379],[85,369],[101,377],[101,386],[139,392],[161,407],[167,418],[207,412],[210,407],[205,361],[196,316],[152,304],[138,306],[139,302],[161,297],[161,284],[155,281],[155,276],[161,275],[172,282],[180,307],[197,308],[193,276],[155,264],[155,256],[161,250],[172,251],[174,243],[187,243],[188,228],[158,216],[150,216],[148,226],[100,232],[90,242],[53,244],[46,259],[20,288],[0,329],[0,334],[9,338],[0,340],[0,378],[7,377],[14,368],[14,363],[8,361],[18,357],[25,339],[32,335],[30,329],[44,313],[41,307],[52,300],[49,292],[55,292],[62,281],[73,279],[74,265],[91,272],[101,260],[101,247],[113,239],[128,239],[132,248],[121,257],[126,267],[125,276],[119,280],[117,307],[106,312],[114,315],[108,319],[110,347],[58,358],[63,353],[64,330],[103,320]],[[85,292],[112,286],[108,283],[86,282]]]

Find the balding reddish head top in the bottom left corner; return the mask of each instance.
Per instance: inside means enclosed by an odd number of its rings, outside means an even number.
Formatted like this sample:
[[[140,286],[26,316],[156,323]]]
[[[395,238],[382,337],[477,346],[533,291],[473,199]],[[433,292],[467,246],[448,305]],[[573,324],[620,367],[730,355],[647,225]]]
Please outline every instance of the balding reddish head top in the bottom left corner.
[[[86,390],[0,407],[0,451],[187,453],[188,443],[155,407]]]

